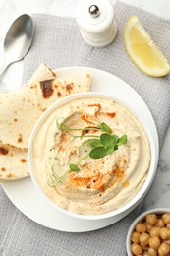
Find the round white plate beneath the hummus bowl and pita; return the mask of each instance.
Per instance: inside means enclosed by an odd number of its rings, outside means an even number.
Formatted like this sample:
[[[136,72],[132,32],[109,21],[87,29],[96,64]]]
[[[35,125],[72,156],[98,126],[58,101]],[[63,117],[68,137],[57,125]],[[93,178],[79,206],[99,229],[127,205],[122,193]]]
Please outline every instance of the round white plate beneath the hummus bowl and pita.
[[[91,91],[107,93],[110,96],[123,100],[131,109],[138,111],[150,128],[158,159],[158,136],[154,120],[142,97],[128,84],[107,72],[92,68],[71,67],[57,69],[55,72],[58,77],[76,77],[80,73],[88,72],[92,77]],[[56,230],[85,232],[114,223],[113,218],[96,221],[81,220],[57,211],[40,196],[29,177],[23,180],[3,183],[2,186],[13,204],[29,219]]]

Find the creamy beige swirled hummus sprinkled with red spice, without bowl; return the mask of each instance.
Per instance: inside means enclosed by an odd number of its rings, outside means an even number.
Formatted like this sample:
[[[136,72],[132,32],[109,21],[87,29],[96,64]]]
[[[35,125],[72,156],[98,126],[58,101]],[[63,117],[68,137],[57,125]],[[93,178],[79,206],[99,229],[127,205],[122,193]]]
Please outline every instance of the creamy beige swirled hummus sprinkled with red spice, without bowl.
[[[91,139],[110,127],[127,142],[105,157],[89,157]],[[77,169],[70,169],[70,164]],[[138,118],[120,103],[76,99],[54,110],[33,143],[34,174],[44,193],[62,209],[81,215],[108,213],[126,205],[141,189],[150,146]]]

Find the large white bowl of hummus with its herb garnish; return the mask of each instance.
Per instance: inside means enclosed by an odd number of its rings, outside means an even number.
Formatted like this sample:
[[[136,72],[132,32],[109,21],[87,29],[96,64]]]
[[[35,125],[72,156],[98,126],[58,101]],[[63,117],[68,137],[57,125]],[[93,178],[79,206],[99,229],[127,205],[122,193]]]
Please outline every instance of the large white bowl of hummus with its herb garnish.
[[[33,184],[57,210],[116,222],[142,201],[157,155],[135,110],[89,92],[66,96],[42,114],[30,136],[28,166]]]

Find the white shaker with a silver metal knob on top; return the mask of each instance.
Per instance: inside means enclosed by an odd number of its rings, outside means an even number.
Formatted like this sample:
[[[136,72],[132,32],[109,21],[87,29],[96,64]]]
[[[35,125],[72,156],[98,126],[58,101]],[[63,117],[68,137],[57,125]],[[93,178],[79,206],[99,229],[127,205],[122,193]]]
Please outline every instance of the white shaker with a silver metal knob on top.
[[[82,0],[76,21],[85,42],[93,47],[107,46],[115,39],[117,25],[110,0]]]

